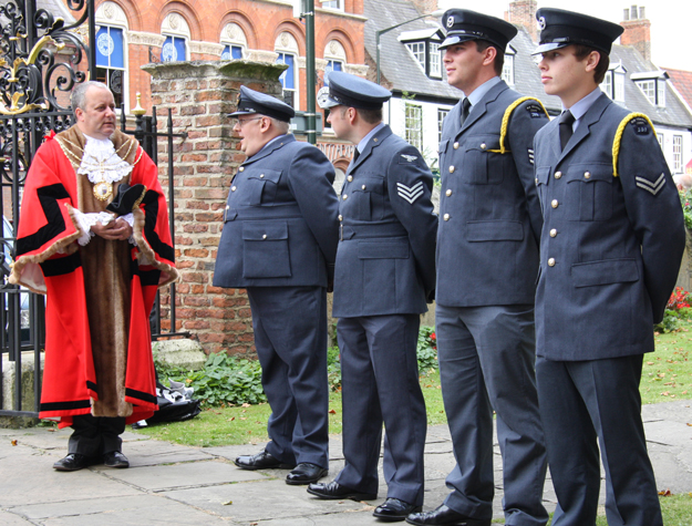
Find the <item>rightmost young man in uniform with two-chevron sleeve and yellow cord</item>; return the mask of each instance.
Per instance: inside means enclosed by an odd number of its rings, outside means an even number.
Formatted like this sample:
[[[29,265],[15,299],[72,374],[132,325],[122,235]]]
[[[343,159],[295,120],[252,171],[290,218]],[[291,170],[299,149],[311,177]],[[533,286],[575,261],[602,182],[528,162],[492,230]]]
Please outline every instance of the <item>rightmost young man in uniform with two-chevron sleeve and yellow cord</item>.
[[[608,524],[661,526],[639,382],[684,250],[680,199],[649,118],[598,86],[622,28],[558,9],[536,16],[541,82],[565,109],[535,141],[536,380],[552,525],[596,523],[600,445]]]

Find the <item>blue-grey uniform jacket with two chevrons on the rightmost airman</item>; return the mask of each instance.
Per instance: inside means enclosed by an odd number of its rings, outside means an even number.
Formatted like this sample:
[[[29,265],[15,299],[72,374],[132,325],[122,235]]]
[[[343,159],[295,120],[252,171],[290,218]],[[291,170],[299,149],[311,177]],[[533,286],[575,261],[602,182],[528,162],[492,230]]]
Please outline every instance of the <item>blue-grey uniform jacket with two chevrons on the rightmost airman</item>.
[[[605,94],[560,152],[558,120],[536,135],[544,213],[536,292],[537,353],[595,360],[653,351],[685,244],[682,209],[653,130],[624,126],[618,177],[612,147],[628,111]]]

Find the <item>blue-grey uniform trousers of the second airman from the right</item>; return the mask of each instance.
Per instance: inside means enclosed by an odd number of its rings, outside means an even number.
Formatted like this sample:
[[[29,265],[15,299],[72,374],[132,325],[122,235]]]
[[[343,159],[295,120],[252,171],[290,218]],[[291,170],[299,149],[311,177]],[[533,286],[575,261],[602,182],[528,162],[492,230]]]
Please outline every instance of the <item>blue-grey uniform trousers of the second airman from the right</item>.
[[[444,307],[435,311],[442,396],[456,465],[445,504],[493,517],[493,410],[503,457],[505,520],[543,526],[546,451],[535,380],[534,308]]]

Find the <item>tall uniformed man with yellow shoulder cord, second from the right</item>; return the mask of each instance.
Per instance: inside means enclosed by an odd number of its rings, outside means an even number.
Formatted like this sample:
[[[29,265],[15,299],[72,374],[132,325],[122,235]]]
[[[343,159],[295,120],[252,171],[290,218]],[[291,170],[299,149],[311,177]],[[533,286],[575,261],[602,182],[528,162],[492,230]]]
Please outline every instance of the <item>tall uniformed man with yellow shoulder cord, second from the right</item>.
[[[494,410],[506,524],[540,526],[548,514],[534,297],[543,219],[533,138],[548,117],[538,101],[499,79],[514,25],[464,9],[448,10],[442,20],[447,82],[465,95],[446,116],[440,144],[435,311],[456,465],[444,503],[409,523],[489,526]]]

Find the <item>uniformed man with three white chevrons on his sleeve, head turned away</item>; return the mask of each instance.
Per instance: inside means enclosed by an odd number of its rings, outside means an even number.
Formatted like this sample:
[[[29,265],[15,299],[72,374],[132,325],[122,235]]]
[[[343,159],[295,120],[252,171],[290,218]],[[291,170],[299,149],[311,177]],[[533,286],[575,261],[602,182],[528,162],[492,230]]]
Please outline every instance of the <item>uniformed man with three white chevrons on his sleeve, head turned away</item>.
[[[373,515],[403,520],[423,504],[425,402],[419,383],[420,314],[435,287],[432,175],[421,153],[382,123],[391,93],[347,73],[329,76],[329,122],[357,144],[341,190],[333,316],[341,349],[343,456],[320,498],[378,494],[384,422],[386,501]]]

